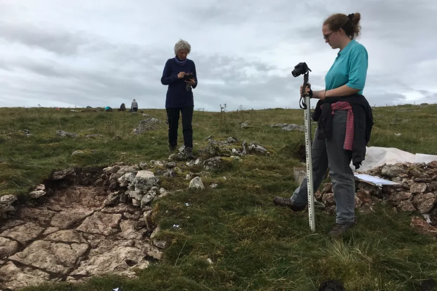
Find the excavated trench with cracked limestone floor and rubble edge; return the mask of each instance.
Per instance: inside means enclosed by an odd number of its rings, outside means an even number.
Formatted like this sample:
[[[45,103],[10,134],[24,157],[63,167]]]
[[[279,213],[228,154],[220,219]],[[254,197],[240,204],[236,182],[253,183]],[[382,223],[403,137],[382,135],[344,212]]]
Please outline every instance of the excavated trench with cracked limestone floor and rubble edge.
[[[136,277],[162,257],[150,238],[159,178],[133,166],[54,172],[18,200],[0,200],[0,290],[91,276]],[[8,197],[9,196],[9,197]]]

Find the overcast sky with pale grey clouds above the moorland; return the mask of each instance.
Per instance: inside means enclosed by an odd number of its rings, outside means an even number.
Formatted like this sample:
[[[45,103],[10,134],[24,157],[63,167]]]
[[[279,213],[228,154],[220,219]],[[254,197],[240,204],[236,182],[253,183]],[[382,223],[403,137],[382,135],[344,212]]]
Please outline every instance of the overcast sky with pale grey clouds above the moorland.
[[[164,108],[165,61],[190,42],[209,111],[299,107],[305,61],[314,89],[337,50],[331,13],[361,13],[371,105],[437,102],[437,0],[0,0],[0,106]]]

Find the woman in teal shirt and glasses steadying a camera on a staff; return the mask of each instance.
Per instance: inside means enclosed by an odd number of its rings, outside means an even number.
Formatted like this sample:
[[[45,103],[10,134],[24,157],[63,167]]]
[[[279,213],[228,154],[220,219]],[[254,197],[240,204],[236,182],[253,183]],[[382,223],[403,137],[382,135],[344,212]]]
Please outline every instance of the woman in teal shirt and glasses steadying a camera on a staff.
[[[317,189],[329,168],[336,204],[336,224],[328,233],[336,236],[346,232],[355,220],[355,181],[350,167],[365,158],[373,125],[372,108],[364,98],[368,54],[355,41],[360,31],[360,14],[331,15],[322,26],[323,38],[337,57],[325,76],[325,90],[305,88],[317,102],[313,119],[318,126],[312,144],[313,185]],[[300,92],[302,87],[300,87]],[[303,179],[291,198],[275,197],[275,205],[302,211],[308,204],[307,179]]]

